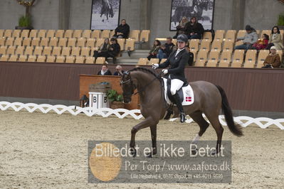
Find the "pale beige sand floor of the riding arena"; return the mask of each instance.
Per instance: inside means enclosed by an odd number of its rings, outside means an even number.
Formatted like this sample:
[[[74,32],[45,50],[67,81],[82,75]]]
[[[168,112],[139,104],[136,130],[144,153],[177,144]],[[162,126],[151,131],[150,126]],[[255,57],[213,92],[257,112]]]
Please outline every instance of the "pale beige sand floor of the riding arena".
[[[83,114],[0,112],[0,188],[283,188],[284,131],[276,126],[244,129],[233,136],[231,184],[90,184],[88,140],[130,139],[135,119],[87,117]],[[158,140],[191,140],[196,124],[160,121]],[[203,140],[216,140],[210,126]],[[137,140],[150,140],[142,129]]]

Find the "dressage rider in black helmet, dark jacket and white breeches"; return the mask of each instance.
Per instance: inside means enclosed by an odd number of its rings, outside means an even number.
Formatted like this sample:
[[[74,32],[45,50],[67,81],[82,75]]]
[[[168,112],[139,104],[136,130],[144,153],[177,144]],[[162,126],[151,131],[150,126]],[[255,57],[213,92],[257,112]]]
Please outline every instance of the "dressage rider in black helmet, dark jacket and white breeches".
[[[169,73],[169,78],[172,80],[171,84],[171,93],[174,97],[174,103],[177,104],[177,108],[179,109],[179,117],[180,121],[183,123],[185,121],[184,109],[182,107],[182,102],[179,99],[179,94],[177,91],[186,83],[186,77],[184,75],[184,67],[189,61],[189,53],[187,53],[185,49],[185,45],[188,42],[188,38],[184,34],[180,34],[177,36],[177,44],[178,49],[173,51],[169,58],[167,58],[166,62],[162,64],[154,64],[152,67],[154,69],[157,68],[167,68],[169,65],[171,67],[169,70],[162,70],[164,75]]]

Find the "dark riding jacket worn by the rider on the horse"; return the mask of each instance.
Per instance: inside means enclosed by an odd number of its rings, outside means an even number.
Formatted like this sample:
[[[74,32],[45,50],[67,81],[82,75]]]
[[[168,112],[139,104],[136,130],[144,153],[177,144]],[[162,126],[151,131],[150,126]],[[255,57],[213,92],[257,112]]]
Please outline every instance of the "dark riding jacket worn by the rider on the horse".
[[[169,75],[171,79],[178,79],[182,80],[183,82],[187,82],[184,75],[184,68],[189,62],[189,53],[185,48],[184,50],[181,50],[177,56],[175,56],[176,53],[177,50],[174,50],[169,55],[169,58],[167,58],[166,62],[159,65],[159,68],[167,68],[170,65],[171,67],[169,68]]]

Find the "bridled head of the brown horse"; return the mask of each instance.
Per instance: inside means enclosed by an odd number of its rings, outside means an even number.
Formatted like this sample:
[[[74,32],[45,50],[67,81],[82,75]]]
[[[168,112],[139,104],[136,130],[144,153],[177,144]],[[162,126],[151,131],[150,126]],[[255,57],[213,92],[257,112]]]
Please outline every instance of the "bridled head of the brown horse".
[[[122,87],[123,102],[129,104],[131,97],[136,89],[136,84],[130,76],[130,72],[124,72],[121,75],[120,86]]]

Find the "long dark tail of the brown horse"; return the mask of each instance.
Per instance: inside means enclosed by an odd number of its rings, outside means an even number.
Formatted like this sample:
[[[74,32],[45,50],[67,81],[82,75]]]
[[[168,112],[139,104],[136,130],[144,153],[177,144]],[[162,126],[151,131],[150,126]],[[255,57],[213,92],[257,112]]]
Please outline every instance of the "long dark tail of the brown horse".
[[[230,131],[236,136],[243,136],[243,131],[241,130],[242,129],[241,126],[233,121],[233,112],[230,105],[228,104],[228,99],[225,91],[219,85],[216,85],[216,87],[218,88],[222,97],[222,110],[223,114],[225,115],[228,129],[230,129]]]

